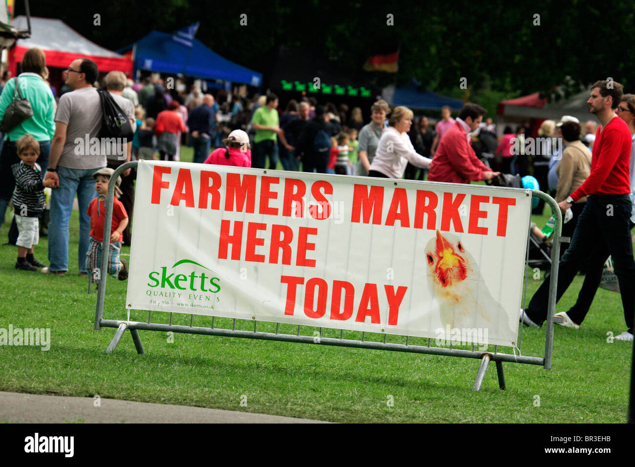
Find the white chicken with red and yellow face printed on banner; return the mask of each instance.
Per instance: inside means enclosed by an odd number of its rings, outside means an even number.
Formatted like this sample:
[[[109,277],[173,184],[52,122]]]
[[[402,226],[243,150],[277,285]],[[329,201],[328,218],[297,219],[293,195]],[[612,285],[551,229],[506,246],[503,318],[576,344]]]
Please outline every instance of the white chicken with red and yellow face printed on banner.
[[[457,236],[437,230],[425,247],[425,261],[444,327],[487,328],[489,339],[513,339],[505,310],[491,296],[479,265]]]

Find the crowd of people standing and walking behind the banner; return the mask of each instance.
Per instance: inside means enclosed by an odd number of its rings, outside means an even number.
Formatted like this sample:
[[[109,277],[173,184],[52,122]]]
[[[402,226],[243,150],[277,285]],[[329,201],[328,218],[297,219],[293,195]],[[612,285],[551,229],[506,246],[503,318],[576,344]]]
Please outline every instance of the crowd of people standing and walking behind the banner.
[[[576,118],[544,121],[538,137],[545,142],[561,139],[563,145],[531,154],[524,149],[522,125],[516,131],[506,127],[499,140],[491,118],[483,121],[486,111],[476,104],[465,104],[456,118],[444,107],[433,125],[425,116],[414,119],[407,107],[391,109],[384,100],[377,100],[371,105],[370,121],[364,123],[359,107],[349,112],[347,105],[320,105],[304,97],[300,102],[290,100],[279,111],[279,99],[273,93],[248,99],[220,90],[213,96],[196,86],[186,93],[182,86],[179,90],[164,87],[159,78],[134,83],[122,72],[111,71],[102,88],[130,119],[134,137],[94,151],[90,141],[98,138],[102,126],[98,76],[94,62],[77,58],[65,70],[64,86],[56,97],[57,91],[46,81],[44,53],[32,48],[24,55],[19,76],[3,76],[0,83],[0,121],[13,101],[15,86],[33,111],[4,134],[0,152],[0,221],[13,200],[15,226],[10,229],[10,243],[13,240],[18,246],[17,269],[41,267],[41,272],[57,275],[69,271],[69,222],[77,196],[78,268],[88,276],[96,267],[104,239],[105,206],[96,199],[105,194],[114,169],[133,159],[178,161],[182,144],[192,147],[194,163],[204,164],[276,169],[280,161],[284,170],[412,180],[424,180],[427,173],[427,180],[461,184],[492,180],[500,173],[533,174],[541,189],[551,191],[559,206],[573,213],[563,228],[572,241],[568,249],[563,248],[558,298],[573,276],[588,268],[578,303],[560,314],[563,324],[579,327],[610,254],[628,326],[617,339],[632,339],[635,293],[627,285],[635,279],[630,234],[635,225],[635,95],[623,95],[618,83],[614,88],[608,88],[606,81],[592,86],[589,105],[601,122],[599,128],[589,121],[582,135]],[[84,139],[85,143],[77,144]],[[108,273],[122,280],[127,277],[127,265],[119,253],[122,245],[130,244],[133,175],[128,169],[117,180],[119,199],[111,232],[106,234]],[[34,256],[45,187],[51,189],[48,266]],[[608,204],[614,208],[610,217]],[[539,204],[535,213],[543,208]],[[530,307],[521,310],[521,321],[540,325],[545,320],[547,294],[545,281]]]

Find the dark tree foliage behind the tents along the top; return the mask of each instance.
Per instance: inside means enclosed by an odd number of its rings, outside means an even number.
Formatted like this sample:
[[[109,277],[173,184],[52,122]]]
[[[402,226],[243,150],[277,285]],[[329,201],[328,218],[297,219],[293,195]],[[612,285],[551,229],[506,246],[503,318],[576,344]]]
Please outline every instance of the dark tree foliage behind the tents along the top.
[[[17,13],[22,13],[17,1]],[[627,45],[632,5],[608,0],[537,3],[396,3],[94,0],[90,5],[39,0],[36,17],[60,18],[106,48],[133,43],[152,29],[172,31],[199,20],[197,38],[220,55],[253,67],[277,45],[318,48],[352,74],[370,55],[399,47],[399,72],[385,83],[416,78],[427,88],[467,93],[549,92],[571,76],[581,83],[612,77],[635,83]],[[93,15],[101,25],[93,25]],[[245,13],[248,25],[239,24]],[[387,25],[387,15],[394,25]],[[540,25],[536,24],[539,16]],[[394,51],[394,50],[392,50]],[[258,71],[265,71],[258,69]],[[376,74],[379,75],[379,74]],[[455,92],[452,92],[453,94]]]

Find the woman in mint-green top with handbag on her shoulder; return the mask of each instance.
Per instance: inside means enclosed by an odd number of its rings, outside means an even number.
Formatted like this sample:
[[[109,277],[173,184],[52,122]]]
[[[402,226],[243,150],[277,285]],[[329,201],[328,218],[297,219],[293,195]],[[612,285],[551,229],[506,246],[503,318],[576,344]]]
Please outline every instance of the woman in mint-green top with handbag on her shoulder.
[[[15,187],[11,165],[19,163],[15,141],[23,135],[32,135],[40,145],[40,155],[37,163],[42,170],[42,178],[48,167],[48,155],[51,151],[51,138],[55,133],[55,98],[51,88],[44,81],[46,73],[46,56],[39,48],[30,48],[24,53],[20,64],[22,73],[17,77],[20,83],[20,93],[27,98],[33,109],[33,115],[25,119],[4,134],[4,144],[0,153],[0,224],[4,222],[4,214],[9,205],[11,194]],[[0,95],[0,122],[4,119],[4,112],[13,100],[16,78],[11,78],[4,86]],[[16,97],[19,98],[19,95]]]

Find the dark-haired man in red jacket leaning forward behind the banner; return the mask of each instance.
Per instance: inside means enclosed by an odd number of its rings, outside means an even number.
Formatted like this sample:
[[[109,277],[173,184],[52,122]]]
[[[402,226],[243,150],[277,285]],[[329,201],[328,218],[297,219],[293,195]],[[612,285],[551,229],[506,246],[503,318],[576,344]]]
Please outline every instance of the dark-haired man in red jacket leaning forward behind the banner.
[[[469,183],[470,180],[491,180],[500,175],[500,172],[491,172],[479,161],[469,142],[469,133],[476,131],[484,114],[485,109],[480,105],[464,105],[434,153],[428,172],[429,181]]]

